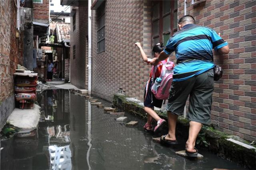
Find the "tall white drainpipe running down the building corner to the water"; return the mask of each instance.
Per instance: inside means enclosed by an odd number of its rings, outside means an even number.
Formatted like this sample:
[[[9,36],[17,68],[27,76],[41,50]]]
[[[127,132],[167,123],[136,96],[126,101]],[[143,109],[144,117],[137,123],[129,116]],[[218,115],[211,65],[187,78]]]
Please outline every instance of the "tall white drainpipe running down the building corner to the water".
[[[88,0],[88,94],[92,94],[92,0]]]

